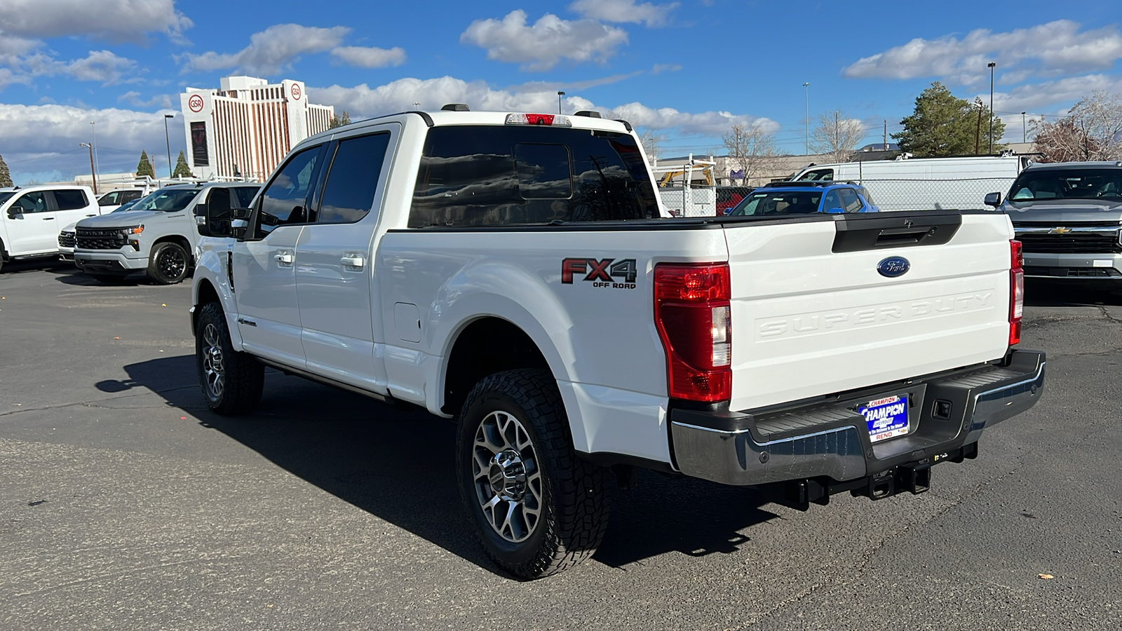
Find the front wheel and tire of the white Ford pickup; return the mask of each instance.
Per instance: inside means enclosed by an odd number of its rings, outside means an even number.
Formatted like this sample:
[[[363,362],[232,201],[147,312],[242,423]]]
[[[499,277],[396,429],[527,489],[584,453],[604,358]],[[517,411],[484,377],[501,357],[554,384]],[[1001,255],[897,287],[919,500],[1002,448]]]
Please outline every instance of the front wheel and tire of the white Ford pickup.
[[[218,388],[209,383],[209,379],[213,379],[215,360],[222,373],[222,385]],[[254,356],[233,349],[226,313],[217,302],[206,304],[199,313],[195,326],[195,366],[203,399],[215,413],[232,417],[247,414],[257,408],[265,388],[265,365]]]

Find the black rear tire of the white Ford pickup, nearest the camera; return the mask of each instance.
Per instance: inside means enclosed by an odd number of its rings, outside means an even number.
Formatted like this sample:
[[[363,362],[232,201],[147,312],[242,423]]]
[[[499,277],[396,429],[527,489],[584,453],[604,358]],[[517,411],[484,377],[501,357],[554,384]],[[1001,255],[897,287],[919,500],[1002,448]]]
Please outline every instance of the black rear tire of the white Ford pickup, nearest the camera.
[[[494,412],[513,415],[525,428],[541,472],[541,516],[521,542],[504,539],[493,528],[477,491],[476,437]],[[463,506],[487,555],[504,570],[522,579],[541,578],[596,552],[608,522],[608,476],[604,467],[577,458],[564,405],[549,371],[496,373],[476,384],[460,414],[456,454]]]

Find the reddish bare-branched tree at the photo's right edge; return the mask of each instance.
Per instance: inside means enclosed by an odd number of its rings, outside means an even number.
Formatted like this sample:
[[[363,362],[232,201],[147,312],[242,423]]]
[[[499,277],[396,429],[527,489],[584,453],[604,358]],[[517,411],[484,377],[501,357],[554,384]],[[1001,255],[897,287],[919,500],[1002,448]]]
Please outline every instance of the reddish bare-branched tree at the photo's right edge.
[[[1120,159],[1122,101],[1118,94],[1094,92],[1056,122],[1032,121],[1032,130],[1043,162]]]

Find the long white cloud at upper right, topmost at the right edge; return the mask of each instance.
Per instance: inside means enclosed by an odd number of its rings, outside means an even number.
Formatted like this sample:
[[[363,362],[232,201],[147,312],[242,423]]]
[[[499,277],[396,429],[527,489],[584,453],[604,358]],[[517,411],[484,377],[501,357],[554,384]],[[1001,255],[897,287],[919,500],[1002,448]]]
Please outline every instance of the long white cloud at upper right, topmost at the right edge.
[[[1079,31],[1079,24],[1056,20],[1009,33],[976,29],[962,39],[912,39],[903,46],[863,57],[846,66],[843,74],[859,79],[916,79],[938,76],[958,84],[988,79],[986,64],[997,64],[999,73],[1034,74],[1109,70],[1122,58],[1122,33],[1106,26]]]

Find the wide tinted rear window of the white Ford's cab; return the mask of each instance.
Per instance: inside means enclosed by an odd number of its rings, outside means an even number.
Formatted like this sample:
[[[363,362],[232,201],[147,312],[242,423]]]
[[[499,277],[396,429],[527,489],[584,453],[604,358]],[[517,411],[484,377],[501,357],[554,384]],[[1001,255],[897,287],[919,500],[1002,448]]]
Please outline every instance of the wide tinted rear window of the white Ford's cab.
[[[628,134],[557,127],[429,130],[410,228],[659,217]]]

